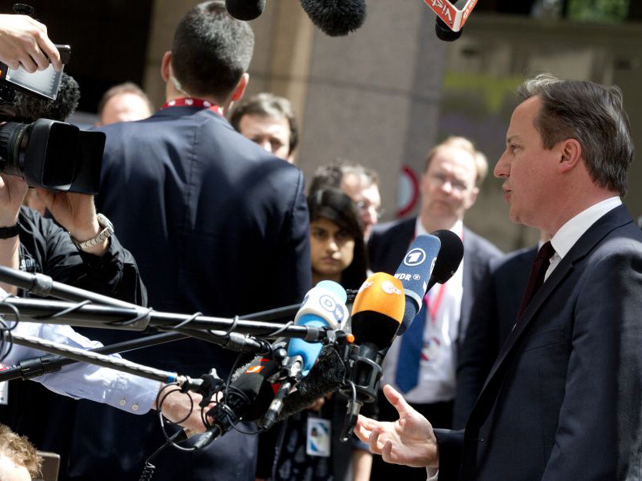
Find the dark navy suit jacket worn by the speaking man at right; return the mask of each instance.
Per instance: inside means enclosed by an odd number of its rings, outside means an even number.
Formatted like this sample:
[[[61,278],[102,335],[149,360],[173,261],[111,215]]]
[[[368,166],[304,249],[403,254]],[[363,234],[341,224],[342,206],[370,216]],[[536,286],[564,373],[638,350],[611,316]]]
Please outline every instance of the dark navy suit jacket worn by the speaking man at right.
[[[642,475],[642,233],[587,230],[508,335],[465,432],[436,431],[440,481]]]

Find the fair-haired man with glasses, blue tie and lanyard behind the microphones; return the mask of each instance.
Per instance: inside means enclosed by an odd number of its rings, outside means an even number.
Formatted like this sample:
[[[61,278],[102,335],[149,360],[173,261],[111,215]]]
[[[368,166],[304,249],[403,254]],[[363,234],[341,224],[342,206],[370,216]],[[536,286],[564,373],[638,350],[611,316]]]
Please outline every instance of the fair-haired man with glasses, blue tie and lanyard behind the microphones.
[[[394,274],[417,235],[451,230],[464,242],[464,260],[444,285],[426,294],[424,306],[403,337],[397,338],[383,363],[381,385],[392,384],[433,426],[447,428],[453,416],[456,353],[464,339],[473,301],[489,260],[499,249],[464,227],[488,171],[485,156],[464,137],[449,137],[426,156],[421,176],[421,209],[417,217],[376,226],[370,236],[370,268]],[[407,345],[421,338],[416,349]],[[394,408],[379,396],[379,419],[397,419]],[[371,480],[425,480],[425,469],[387,464],[375,457]]]

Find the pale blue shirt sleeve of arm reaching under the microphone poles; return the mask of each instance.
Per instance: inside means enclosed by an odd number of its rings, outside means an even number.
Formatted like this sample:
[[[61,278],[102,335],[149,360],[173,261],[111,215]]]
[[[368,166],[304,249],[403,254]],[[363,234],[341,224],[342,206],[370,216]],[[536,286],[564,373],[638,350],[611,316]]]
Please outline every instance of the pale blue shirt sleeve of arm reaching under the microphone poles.
[[[14,324],[13,322],[4,322],[8,325]],[[92,349],[102,346],[100,342],[87,339],[70,326],[21,322],[15,326],[12,333],[40,337],[74,348]],[[3,353],[0,353],[0,358],[4,353],[6,353],[6,347]],[[3,363],[11,366],[22,360],[44,354],[46,353],[14,344]],[[119,357],[119,355],[113,356]],[[134,414],[144,414],[152,409],[160,389],[158,381],[85,362],[64,366],[56,373],[42,375],[33,378],[33,380],[58,394],[105,403]]]

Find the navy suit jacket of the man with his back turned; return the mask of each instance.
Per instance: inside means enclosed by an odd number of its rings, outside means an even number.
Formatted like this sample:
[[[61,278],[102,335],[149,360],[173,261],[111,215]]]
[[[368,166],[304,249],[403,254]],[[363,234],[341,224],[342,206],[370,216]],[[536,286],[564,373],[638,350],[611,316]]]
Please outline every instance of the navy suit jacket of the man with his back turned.
[[[171,107],[105,126],[99,212],[139,263],[149,305],[232,317],[300,302],[311,285],[302,173],[212,110]],[[92,335],[105,342],[121,333]],[[236,353],[204,341],[132,351],[136,362],[199,376]],[[80,403],[72,475],[137,480],[164,439],[157,416]],[[245,430],[248,430],[246,427]],[[204,451],[169,449],[154,479],[254,480],[256,436],[231,431]]]

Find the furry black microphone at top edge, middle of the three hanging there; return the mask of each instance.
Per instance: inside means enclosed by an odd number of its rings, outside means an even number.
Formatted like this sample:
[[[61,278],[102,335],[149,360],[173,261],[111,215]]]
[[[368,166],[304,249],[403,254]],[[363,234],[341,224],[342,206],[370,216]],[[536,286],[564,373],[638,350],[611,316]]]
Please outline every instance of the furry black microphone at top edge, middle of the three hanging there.
[[[342,37],[363,25],[365,0],[301,0],[303,10],[330,37]]]

